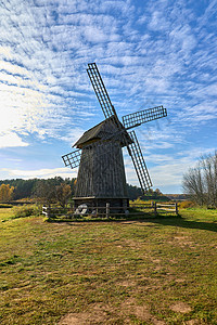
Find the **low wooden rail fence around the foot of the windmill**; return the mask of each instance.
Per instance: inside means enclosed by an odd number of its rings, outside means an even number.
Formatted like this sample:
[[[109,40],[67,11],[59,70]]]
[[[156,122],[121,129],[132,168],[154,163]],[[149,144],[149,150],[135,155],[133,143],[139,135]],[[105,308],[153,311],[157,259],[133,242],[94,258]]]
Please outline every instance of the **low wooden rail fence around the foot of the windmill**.
[[[91,207],[84,208],[79,212],[74,207],[69,208],[60,208],[56,206],[43,206],[42,213],[49,218],[60,218],[65,217],[67,219],[82,216],[91,216],[91,217],[101,217],[101,218],[110,218],[114,216],[145,216],[145,214],[178,214],[178,205],[175,204],[161,204],[161,203],[152,203],[152,204],[136,204],[133,203],[129,207],[111,207],[107,203],[105,207]]]

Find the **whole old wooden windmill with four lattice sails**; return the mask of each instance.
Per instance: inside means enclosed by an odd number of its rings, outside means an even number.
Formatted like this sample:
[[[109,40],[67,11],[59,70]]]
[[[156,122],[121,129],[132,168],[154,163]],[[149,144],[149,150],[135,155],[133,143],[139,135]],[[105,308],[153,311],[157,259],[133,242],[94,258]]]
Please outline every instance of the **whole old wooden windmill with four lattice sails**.
[[[77,150],[62,157],[66,167],[79,166],[75,207],[86,204],[91,209],[104,207],[106,203],[112,207],[127,207],[123,147],[127,147],[132,159],[143,193],[152,186],[137,135],[133,130],[128,130],[165,117],[167,112],[163,106],[156,106],[128,114],[120,122],[97,64],[88,64],[87,73],[105,119],[81,135],[74,144]]]

